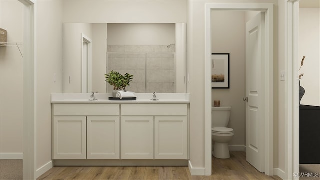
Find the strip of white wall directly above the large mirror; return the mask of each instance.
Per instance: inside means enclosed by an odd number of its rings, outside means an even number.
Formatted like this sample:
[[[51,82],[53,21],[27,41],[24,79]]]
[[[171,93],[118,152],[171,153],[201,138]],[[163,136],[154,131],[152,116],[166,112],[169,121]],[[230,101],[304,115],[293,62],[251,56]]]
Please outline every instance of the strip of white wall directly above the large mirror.
[[[63,21],[183,23],[186,22],[186,4],[184,0],[68,0],[63,1]]]

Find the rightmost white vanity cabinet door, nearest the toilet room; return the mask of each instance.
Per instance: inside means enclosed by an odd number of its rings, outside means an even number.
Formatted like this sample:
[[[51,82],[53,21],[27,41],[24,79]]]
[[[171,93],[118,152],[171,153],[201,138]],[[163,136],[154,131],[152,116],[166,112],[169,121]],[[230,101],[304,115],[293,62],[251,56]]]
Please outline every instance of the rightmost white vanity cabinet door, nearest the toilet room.
[[[187,159],[187,117],[154,117],[154,159]]]

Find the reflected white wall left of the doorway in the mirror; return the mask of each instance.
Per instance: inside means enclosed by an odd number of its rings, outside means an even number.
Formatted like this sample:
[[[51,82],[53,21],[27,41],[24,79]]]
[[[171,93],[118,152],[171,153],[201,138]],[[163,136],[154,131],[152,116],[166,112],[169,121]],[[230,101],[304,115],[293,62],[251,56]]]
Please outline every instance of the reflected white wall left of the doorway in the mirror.
[[[83,33],[88,38],[92,39],[92,24],[90,23],[64,23],[63,24],[63,92],[64,93],[81,93],[81,59],[82,59],[81,33]],[[70,78],[70,81],[69,81],[69,78]]]

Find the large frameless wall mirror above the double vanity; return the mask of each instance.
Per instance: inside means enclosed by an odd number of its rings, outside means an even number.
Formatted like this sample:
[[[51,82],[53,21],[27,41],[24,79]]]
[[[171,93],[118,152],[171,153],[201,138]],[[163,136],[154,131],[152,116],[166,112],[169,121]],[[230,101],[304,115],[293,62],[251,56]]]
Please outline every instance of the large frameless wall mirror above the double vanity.
[[[63,24],[64,93],[111,93],[111,70],[134,75],[128,91],[185,93],[186,24]]]

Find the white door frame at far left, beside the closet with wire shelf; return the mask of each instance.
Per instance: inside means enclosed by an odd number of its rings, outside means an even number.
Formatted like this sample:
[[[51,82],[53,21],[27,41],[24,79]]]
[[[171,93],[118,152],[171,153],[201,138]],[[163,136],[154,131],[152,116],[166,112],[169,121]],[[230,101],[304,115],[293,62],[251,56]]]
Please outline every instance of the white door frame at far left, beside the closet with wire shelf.
[[[23,4],[23,179],[36,175],[36,2]]]

